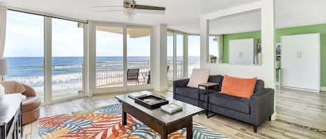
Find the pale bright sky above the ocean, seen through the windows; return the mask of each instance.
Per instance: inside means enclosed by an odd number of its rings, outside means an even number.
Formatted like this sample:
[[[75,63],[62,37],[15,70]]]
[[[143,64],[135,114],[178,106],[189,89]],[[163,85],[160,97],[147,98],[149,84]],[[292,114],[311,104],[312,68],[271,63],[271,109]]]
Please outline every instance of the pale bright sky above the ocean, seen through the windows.
[[[8,11],[4,57],[43,57],[44,19],[39,15]],[[97,31],[97,56],[122,56],[121,34]],[[183,53],[183,36],[177,35],[177,56]],[[171,43],[172,41],[172,43]],[[172,46],[171,46],[172,45]],[[168,37],[168,56],[173,54],[173,37]],[[188,55],[200,55],[199,36],[189,36]],[[150,37],[127,37],[128,56],[149,56]],[[52,56],[83,56],[83,28],[77,22],[52,19]]]

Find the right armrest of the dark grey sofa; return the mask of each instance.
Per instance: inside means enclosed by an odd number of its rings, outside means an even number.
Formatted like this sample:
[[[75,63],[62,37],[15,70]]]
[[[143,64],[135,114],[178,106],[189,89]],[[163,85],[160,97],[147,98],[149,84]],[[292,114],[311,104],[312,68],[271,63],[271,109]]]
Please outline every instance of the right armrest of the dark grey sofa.
[[[274,89],[261,89],[250,98],[250,122],[259,126],[274,113]]]

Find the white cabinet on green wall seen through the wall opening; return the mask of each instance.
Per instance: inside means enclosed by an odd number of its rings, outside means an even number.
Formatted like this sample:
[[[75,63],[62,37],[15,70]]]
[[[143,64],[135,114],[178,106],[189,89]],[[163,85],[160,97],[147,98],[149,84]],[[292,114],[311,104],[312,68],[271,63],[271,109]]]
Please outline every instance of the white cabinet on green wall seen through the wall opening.
[[[229,40],[229,64],[254,64],[256,39]]]

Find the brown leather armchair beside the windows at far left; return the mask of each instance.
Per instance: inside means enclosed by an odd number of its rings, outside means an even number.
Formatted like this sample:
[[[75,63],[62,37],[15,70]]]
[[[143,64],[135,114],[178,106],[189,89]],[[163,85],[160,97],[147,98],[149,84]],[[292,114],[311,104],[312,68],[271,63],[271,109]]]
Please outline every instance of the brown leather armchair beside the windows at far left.
[[[23,84],[26,91],[22,95],[26,95],[26,100],[22,102],[22,122],[28,124],[40,118],[41,100],[31,86]]]

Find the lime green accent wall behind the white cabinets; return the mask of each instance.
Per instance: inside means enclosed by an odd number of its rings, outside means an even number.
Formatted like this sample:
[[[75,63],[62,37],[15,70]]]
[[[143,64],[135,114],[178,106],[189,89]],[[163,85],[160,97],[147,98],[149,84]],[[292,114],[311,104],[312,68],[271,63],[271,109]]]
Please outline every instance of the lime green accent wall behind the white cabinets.
[[[281,41],[282,35],[298,35],[309,33],[320,33],[321,86],[326,86],[326,24],[279,28],[276,30],[275,43]],[[229,40],[247,38],[255,38],[258,40],[258,43],[261,43],[261,31],[223,35],[223,62],[229,62]]]

